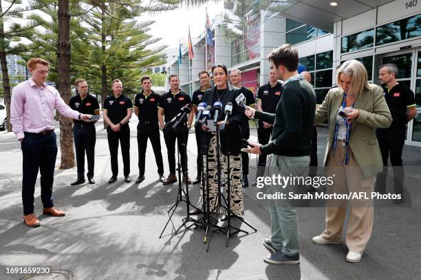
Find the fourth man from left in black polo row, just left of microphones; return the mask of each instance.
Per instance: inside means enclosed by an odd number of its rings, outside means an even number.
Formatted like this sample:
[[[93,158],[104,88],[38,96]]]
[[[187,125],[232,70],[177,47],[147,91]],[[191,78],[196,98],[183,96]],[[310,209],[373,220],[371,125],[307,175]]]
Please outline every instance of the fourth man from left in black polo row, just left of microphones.
[[[180,151],[182,172],[187,170],[187,154],[183,152],[186,148],[188,140],[188,130],[191,128],[191,123],[193,122],[193,110],[188,114],[187,126],[184,124],[180,125],[176,131],[171,127],[165,128],[164,124],[164,115],[165,123],[171,121],[178,113],[180,113],[181,108],[187,104],[191,104],[191,98],[188,94],[182,92],[179,89],[180,80],[178,76],[172,74],[169,76],[169,84],[171,89],[162,95],[160,103],[158,104],[158,121],[160,122],[160,128],[164,132],[164,140],[166,145],[166,150],[168,152],[168,163],[170,168],[170,174],[162,185],[169,185],[177,182],[177,176],[175,176],[175,139],[177,139],[178,150]],[[184,174],[183,181],[191,184],[191,180]]]

